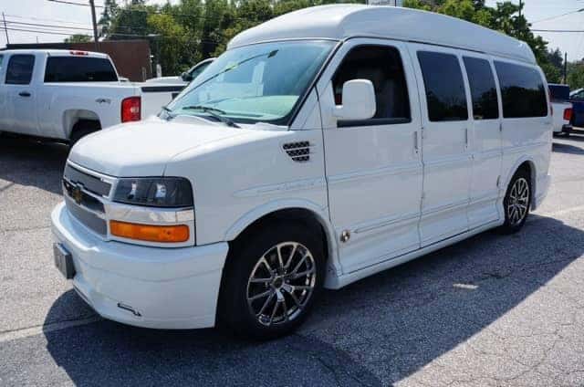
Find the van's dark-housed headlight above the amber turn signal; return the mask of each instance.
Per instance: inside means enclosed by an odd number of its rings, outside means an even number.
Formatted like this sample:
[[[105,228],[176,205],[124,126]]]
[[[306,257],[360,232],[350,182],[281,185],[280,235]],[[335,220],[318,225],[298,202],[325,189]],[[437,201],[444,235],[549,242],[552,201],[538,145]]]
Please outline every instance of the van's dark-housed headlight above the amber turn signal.
[[[113,201],[151,207],[192,207],[193,188],[183,177],[123,178]]]

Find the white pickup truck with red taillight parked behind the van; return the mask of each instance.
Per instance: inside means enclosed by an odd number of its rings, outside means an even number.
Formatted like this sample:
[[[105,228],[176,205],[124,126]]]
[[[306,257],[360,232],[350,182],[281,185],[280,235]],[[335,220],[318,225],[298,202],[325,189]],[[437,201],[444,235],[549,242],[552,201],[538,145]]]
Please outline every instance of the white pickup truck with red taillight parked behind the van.
[[[157,114],[181,89],[120,81],[106,54],[0,51],[0,131],[75,143]]]

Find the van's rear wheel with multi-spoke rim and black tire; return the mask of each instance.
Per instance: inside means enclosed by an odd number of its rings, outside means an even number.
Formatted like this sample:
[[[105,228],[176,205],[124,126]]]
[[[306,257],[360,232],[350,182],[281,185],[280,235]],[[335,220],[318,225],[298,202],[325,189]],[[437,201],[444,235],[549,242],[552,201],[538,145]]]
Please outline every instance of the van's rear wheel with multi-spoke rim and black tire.
[[[525,225],[531,205],[531,184],[526,171],[517,171],[507,187],[503,208],[505,223],[500,227],[504,234],[516,233]]]

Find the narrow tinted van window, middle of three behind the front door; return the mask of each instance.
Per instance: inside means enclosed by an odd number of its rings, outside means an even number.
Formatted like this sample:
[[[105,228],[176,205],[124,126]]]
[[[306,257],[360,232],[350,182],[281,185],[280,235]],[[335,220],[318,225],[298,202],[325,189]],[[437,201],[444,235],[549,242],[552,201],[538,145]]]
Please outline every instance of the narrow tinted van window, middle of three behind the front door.
[[[463,60],[473,98],[474,120],[498,119],[499,105],[491,65],[480,58],[464,57]]]

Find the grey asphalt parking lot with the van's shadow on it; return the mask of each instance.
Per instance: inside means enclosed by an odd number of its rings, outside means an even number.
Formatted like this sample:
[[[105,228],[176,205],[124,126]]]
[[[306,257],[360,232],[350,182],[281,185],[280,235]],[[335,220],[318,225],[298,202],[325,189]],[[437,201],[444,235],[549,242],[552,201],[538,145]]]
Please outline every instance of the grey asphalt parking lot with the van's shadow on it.
[[[584,385],[584,136],[554,139],[546,202],[328,291],[297,334],[99,319],[53,267],[68,148],[0,138],[0,385]]]

